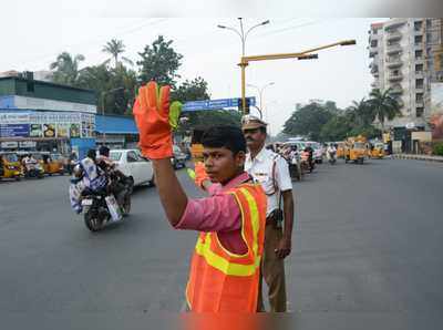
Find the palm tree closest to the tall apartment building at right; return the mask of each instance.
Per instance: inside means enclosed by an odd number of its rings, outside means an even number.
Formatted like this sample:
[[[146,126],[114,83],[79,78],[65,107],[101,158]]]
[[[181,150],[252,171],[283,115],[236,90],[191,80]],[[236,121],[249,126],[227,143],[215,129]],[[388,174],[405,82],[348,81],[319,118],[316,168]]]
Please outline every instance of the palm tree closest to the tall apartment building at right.
[[[384,121],[392,121],[396,116],[402,116],[400,111],[400,104],[395,97],[392,96],[391,89],[384,92],[379,89],[374,89],[370,93],[371,99],[368,104],[373,110],[374,116],[379,120],[381,128],[384,132]]]

